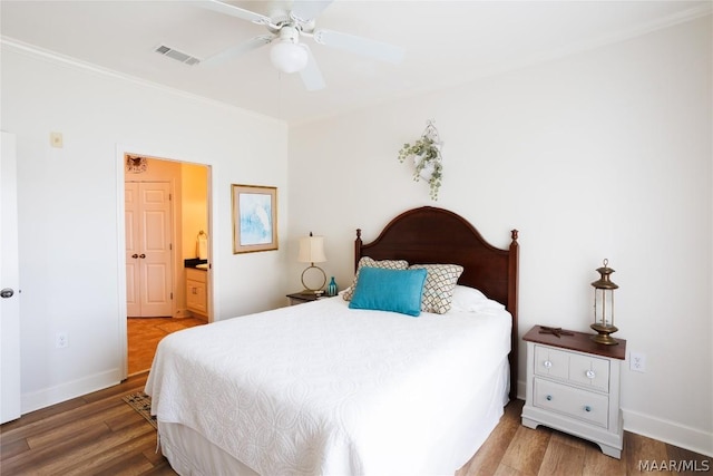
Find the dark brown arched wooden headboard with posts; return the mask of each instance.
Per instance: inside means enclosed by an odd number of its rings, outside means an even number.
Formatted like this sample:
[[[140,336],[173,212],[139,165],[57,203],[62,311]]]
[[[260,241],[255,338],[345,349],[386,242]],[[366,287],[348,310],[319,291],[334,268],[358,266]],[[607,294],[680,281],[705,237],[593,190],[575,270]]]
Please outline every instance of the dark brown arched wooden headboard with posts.
[[[505,304],[512,315],[510,347],[510,398],[517,396],[517,230],[510,232],[507,250],[484,240],[466,218],[432,206],[409,210],[393,218],[371,243],[361,240],[356,230],[354,271],[362,256],[374,260],[406,260],[411,264],[460,264],[463,273],[458,284],[476,288],[488,298]]]

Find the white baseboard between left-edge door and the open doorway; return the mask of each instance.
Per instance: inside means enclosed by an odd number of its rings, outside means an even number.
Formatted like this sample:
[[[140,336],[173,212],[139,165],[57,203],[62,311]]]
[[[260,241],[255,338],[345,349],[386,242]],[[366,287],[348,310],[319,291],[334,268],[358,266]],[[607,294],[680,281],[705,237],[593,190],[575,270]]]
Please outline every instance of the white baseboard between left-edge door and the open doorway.
[[[42,390],[22,394],[20,396],[20,412],[22,415],[39,410],[55,404],[91,394],[111,387],[121,381],[119,369],[95,373],[79,380],[72,380]]]

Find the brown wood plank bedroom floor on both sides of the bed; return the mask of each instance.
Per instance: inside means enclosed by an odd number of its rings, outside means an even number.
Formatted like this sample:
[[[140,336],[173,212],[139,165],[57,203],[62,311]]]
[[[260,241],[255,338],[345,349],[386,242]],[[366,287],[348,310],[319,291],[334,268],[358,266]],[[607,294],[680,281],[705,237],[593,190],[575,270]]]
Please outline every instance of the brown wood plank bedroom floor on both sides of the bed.
[[[144,388],[147,373],[118,386],[75,398],[0,427],[0,474],[6,475],[175,475],[156,454],[156,431],[121,400]],[[588,441],[539,427],[520,425],[522,401],[506,414],[488,440],[457,476],[476,475],[636,475],[639,460],[697,462],[711,458],[635,434],[625,434],[621,460]],[[645,468],[644,468],[645,469]],[[658,474],[694,474],[656,472]],[[697,474],[697,473],[696,473]]]

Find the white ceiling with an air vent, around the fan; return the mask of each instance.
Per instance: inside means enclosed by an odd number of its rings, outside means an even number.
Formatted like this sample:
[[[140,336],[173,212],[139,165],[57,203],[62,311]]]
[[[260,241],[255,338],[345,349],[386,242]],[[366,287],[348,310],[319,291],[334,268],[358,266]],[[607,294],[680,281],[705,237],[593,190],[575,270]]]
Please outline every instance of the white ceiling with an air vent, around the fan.
[[[712,6],[643,0],[335,0],[318,18],[318,28],[401,46],[406,58],[398,65],[380,62],[306,38],[326,82],[325,89],[307,91],[297,74],[273,68],[268,46],[211,66],[187,66],[156,54],[157,46],[166,45],[205,59],[266,32],[263,26],[198,3],[1,0],[0,31],[3,42],[16,47],[38,47],[296,124],[619,41],[710,14]],[[229,3],[268,14],[275,2]]]

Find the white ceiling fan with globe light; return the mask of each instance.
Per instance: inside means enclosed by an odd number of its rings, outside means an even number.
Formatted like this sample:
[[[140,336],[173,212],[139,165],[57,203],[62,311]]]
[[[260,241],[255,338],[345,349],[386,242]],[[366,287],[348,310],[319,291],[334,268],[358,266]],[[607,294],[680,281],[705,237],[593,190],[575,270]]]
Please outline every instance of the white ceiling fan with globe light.
[[[300,72],[302,82],[307,90],[319,90],[325,87],[324,78],[312,51],[306,43],[300,41],[301,38],[312,38],[320,45],[381,61],[397,64],[403,59],[404,50],[401,47],[340,31],[315,28],[316,17],[332,1],[334,0],[294,0],[291,10],[275,7],[270,16],[265,16],[218,0],[203,0],[197,3],[202,8],[262,25],[267,29],[267,33],[235,45],[201,62],[204,65],[223,62],[274,42],[270,50],[273,66],[283,72]]]

